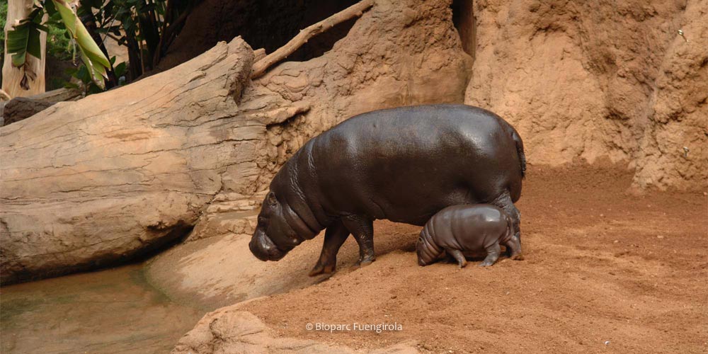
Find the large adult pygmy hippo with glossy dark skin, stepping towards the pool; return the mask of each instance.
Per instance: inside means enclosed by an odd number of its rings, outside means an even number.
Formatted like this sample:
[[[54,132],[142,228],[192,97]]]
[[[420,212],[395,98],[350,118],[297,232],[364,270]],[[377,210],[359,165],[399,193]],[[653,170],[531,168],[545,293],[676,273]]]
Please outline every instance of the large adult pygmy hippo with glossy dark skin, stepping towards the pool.
[[[360,264],[375,259],[373,221],[423,226],[450,205],[489,203],[517,237],[526,169],[523,142],[494,113],[469,105],[418,105],[356,115],[309,140],[270,182],[249,248],[262,261],[322,229],[310,275],[332,273],[353,234]]]

